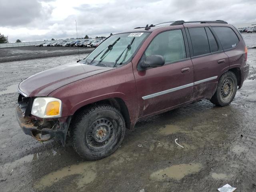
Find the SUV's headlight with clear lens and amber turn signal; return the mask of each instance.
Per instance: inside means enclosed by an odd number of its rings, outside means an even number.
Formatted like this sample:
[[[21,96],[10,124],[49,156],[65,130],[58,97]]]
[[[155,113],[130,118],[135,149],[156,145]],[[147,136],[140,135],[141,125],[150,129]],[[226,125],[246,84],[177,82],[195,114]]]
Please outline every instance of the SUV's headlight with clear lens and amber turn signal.
[[[40,118],[61,117],[61,100],[53,97],[34,99],[31,114]]]

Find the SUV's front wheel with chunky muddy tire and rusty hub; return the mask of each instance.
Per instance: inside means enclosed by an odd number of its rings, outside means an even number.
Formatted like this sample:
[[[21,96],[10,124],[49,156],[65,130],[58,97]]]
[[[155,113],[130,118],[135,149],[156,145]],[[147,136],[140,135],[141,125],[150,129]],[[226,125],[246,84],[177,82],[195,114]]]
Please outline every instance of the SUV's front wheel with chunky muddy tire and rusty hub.
[[[99,105],[82,111],[73,123],[72,132],[74,150],[86,160],[98,160],[120,146],[125,121],[116,108]]]

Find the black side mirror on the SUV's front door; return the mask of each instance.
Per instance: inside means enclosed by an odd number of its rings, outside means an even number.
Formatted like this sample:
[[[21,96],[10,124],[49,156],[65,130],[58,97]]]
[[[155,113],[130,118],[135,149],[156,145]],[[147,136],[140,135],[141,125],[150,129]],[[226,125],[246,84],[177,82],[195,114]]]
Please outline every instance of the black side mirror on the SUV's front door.
[[[142,60],[140,67],[142,69],[149,67],[160,67],[165,63],[164,57],[162,55],[150,55],[147,56],[145,60]]]

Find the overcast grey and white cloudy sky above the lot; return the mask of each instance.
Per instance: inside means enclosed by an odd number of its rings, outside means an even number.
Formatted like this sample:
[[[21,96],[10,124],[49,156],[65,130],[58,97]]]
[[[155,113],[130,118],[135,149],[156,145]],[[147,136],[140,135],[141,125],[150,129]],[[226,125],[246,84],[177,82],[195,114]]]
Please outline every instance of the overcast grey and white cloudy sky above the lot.
[[[0,0],[9,42],[109,36],[170,20],[256,21],[256,0]],[[76,20],[76,22],[75,22]]]

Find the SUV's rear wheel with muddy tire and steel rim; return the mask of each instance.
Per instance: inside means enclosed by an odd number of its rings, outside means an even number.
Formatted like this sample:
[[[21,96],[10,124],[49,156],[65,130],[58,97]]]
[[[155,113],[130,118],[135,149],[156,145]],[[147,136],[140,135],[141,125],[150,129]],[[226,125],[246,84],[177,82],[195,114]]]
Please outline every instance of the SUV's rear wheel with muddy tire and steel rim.
[[[220,77],[216,92],[210,99],[210,102],[217,106],[227,106],[233,101],[236,95],[236,90],[236,75],[233,72],[228,71]]]

